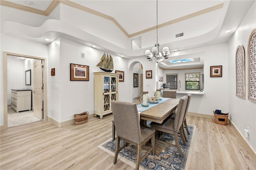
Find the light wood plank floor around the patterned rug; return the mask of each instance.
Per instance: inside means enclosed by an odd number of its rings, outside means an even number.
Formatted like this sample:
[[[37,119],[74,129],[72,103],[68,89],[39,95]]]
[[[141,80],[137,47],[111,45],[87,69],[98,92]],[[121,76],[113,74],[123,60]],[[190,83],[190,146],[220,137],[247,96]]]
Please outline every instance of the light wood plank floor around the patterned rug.
[[[112,114],[80,125],[58,128],[48,121],[8,128],[0,133],[1,170],[131,170],[98,145],[112,137]],[[255,170],[256,164],[229,125],[187,116],[196,125],[190,170]]]

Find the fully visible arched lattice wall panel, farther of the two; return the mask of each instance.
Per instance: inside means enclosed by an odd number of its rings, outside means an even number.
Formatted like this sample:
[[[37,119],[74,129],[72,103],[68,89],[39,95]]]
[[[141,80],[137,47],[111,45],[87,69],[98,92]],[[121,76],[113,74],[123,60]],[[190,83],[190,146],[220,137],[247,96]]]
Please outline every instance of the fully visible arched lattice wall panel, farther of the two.
[[[236,96],[245,99],[244,47],[236,48]]]

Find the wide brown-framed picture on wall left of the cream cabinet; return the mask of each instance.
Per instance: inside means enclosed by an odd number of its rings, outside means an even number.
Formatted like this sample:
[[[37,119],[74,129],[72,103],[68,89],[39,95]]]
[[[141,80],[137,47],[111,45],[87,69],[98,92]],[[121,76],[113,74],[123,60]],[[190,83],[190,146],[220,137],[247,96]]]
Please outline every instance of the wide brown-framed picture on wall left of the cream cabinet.
[[[70,81],[89,81],[89,66],[70,63]]]

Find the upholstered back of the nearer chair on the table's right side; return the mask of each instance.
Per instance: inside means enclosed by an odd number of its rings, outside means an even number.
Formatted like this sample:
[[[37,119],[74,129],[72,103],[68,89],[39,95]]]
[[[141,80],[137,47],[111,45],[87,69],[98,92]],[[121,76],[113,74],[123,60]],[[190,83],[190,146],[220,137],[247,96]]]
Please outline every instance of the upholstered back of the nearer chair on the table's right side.
[[[183,96],[182,98],[180,98],[177,112],[174,119],[174,132],[178,132],[178,130],[180,129],[180,126],[183,123],[187,102],[188,102],[188,96]]]

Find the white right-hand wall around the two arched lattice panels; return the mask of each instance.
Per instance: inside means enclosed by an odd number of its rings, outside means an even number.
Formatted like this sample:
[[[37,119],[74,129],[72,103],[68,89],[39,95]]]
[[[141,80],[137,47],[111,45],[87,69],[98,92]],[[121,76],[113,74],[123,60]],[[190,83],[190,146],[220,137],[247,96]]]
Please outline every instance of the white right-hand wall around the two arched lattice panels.
[[[256,2],[252,5],[240,26],[229,41],[228,50],[228,100],[230,120],[240,134],[256,152],[256,103],[248,100],[248,40],[256,28]],[[236,96],[236,48],[242,45],[245,52],[245,94],[246,98]],[[249,138],[245,137],[244,129],[249,127]]]

